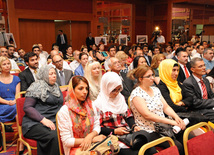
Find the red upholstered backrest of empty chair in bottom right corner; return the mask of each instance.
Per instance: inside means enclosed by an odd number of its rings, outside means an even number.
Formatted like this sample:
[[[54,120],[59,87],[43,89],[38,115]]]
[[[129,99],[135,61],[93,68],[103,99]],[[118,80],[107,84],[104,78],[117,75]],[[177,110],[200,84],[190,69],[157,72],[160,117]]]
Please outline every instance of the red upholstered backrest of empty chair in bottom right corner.
[[[209,131],[187,141],[189,155],[214,154],[214,133]]]

